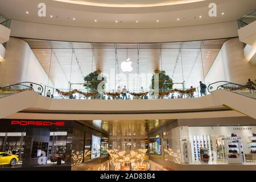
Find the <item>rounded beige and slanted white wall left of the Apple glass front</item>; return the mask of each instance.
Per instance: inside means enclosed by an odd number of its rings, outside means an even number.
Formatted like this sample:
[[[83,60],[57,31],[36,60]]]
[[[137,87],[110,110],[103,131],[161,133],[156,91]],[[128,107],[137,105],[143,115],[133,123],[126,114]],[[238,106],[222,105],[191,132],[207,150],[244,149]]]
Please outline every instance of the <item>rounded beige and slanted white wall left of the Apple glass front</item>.
[[[24,40],[10,38],[6,57],[0,62],[0,84],[10,85],[30,81],[47,85],[48,76]],[[49,86],[53,86],[49,80]]]

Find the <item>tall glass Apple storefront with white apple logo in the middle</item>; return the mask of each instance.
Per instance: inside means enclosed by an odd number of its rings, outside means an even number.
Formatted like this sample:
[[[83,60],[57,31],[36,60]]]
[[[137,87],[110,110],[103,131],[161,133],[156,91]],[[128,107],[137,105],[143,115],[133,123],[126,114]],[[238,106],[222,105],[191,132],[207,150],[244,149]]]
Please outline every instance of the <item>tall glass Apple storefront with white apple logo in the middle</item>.
[[[39,83],[43,94],[50,90],[52,97],[60,97],[56,89],[93,93],[100,83],[104,92],[125,86],[127,92],[150,92],[155,74],[168,76],[163,88],[197,88],[227,39],[137,44],[24,40],[47,73],[47,82]]]

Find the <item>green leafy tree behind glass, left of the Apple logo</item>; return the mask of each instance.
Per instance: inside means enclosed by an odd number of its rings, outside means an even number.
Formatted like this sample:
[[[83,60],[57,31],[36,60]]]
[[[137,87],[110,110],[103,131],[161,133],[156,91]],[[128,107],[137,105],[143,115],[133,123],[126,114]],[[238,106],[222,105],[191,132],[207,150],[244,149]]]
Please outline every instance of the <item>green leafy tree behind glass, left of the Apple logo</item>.
[[[90,90],[90,92],[98,92],[98,84],[100,84],[100,82],[105,81],[104,77],[102,76],[102,80],[98,80],[98,76],[102,74],[101,71],[94,71],[92,73],[89,73],[88,75],[86,75],[84,77],[84,87],[88,90]],[[105,84],[102,86],[102,90],[105,89]]]

